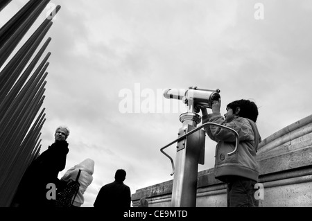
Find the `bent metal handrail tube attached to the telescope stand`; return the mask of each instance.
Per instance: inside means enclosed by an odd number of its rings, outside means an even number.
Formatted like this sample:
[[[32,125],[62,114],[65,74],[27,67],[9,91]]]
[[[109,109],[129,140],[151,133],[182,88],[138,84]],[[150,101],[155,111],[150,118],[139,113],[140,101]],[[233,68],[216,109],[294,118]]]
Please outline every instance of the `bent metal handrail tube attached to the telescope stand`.
[[[194,130],[191,130],[190,132],[187,132],[187,134],[184,134],[182,136],[180,136],[179,138],[175,139],[174,141],[172,141],[171,143],[168,143],[167,145],[165,145],[163,148],[160,149],[160,152],[162,152],[166,157],[168,157],[171,161],[171,166],[172,166],[172,173],[170,174],[171,176],[175,173],[175,164],[173,162],[173,159],[168,155],[166,154],[166,152],[164,152],[164,149],[165,148],[168,148],[168,146],[172,145],[173,143],[176,143],[178,141],[181,141],[182,139],[184,139],[185,137],[193,134],[194,132],[202,129],[202,127],[205,127],[206,125],[215,125],[215,126],[218,126],[218,127],[223,127],[224,129],[227,129],[227,130],[230,130],[234,133],[235,135],[235,148],[232,152],[228,152],[227,153],[227,156],[231,156],[234,154],[234,152],[236,152],[237,148],[239,147],[239,134],[236,132],[236,130],[230,128],[230,127],[227,127],[225,125],[220,125],[218,123],[213,123],[213,122],[207,122],[207,123],[204,123],[202,125],[200,125],[199,127],[196,127],[196,129]]]

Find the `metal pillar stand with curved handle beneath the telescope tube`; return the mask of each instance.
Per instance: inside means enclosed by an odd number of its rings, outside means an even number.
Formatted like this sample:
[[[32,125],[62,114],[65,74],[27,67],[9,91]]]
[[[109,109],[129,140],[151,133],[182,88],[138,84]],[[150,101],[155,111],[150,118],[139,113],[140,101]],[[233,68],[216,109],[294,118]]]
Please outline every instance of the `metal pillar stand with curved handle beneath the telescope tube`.
[[[178,138],[168,145],[165,145],[160,151],[166,155],[171,161],[174,174],[173,191],[171,197],[172,207],[195,207],[196,192],[198,179],[198,163],[204,164],[205,161],[205,131],[200,130],[207,125],[215,125],[231,130],[235,134],[236,145],[232,152],[234,154],[239,145],[239,134],[232,128],[217,123],[204,123],[200,127],[196,127],[200,123],[200,116],[194,113],[193,108],[190,112],[180,115],[182,127],[178,132]],[[173,159],[164,152],[165,148],[177,142],[177,154],[174,166]]]

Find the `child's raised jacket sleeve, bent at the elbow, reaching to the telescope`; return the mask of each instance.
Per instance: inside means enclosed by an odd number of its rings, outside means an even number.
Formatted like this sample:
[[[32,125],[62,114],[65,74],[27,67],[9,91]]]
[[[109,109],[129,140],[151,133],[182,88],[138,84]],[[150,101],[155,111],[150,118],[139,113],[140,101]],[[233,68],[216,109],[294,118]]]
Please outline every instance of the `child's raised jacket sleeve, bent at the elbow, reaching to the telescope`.
[[[212,122],[224,125],[234,129],[239,134],[239,141],[250,141],[254,139],[254,134],[250,123],[241,117],[234,118],[233,121],[227,123],[220,114],[208,114],[204,117],[203,122]],[[209,125],[205,127],[210,139],[218,141],[234,142],[235,134],[226,128]]]

